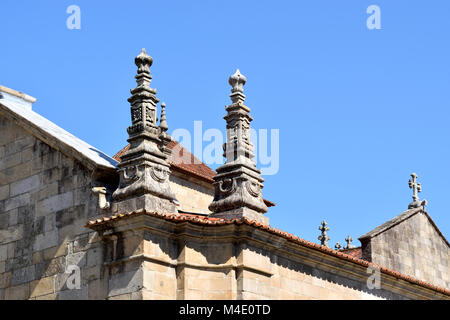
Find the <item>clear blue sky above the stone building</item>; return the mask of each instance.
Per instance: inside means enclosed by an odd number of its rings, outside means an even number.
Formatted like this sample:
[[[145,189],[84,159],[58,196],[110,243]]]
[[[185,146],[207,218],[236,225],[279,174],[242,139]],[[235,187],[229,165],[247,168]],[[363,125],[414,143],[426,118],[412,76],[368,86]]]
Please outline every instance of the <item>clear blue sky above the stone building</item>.
[[[66,9],[81,8],[81,30]],[[381,8],[381,30],[366,9]],[[277,228],[330,244],[404,211],[409,174],[450,237],[450,2],[2,0],[0,83],[34,110],[113,155],[126,144],[134,57],[169,132],[225,131],[231,75],[247,77],[255,128],[280,130],[280,171],[264,196]],[[359,241],[355,241],[359,244]]]

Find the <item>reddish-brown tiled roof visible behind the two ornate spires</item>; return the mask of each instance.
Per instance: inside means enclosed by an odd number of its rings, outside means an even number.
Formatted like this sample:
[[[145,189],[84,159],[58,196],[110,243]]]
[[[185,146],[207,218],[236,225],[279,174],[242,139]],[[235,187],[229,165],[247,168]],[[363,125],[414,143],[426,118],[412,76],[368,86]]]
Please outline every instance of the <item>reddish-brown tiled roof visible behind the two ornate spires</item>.
[[[130,145],[127,145],[125,148],[117,152],[113,158],[119,162],[122,161],[121,156],[130,148]],[[168,148],[172,150],[172,157],[169,159],[169,163],[171,169],[180,171],[182,173],[186,173],[189,175],[193,175],[196,178],[199,178],[208,183],[213,183],[213,177],[216,175],[216,172],[208,167],[206,164],[201,162],[197,157],[195,157],[192,153],[186,150],[181,144],[177,141],[172,140]],[[274,207],[275,203],[272,201],[263,199],[264,203],[268,207]]]

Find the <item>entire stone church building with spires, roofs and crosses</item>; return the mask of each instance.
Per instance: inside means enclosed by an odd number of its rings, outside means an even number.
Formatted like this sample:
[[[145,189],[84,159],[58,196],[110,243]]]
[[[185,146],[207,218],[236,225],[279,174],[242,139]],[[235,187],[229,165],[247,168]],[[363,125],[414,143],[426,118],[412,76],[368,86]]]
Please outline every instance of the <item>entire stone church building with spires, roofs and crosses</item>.
[[[0,86],[0,299],[450,299],[449,243],[415,177],[404,213],[328,247],[272,227],[249,139],[245,77],[230,77],[225,164],[167,134],[135,59],[128,145],[111,158]],[[181,160],[180,160],[181,159]],[[373,281],[372,281],[373,280]]]

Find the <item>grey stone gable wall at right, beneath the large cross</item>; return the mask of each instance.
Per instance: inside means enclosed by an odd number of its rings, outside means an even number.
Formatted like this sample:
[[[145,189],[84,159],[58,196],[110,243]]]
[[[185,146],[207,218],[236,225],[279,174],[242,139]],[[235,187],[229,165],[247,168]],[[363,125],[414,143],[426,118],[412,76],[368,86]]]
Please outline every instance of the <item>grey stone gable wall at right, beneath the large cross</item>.
[[[363,254],[372,262],[450,288],[450,248],[424,213],[368,241]]]

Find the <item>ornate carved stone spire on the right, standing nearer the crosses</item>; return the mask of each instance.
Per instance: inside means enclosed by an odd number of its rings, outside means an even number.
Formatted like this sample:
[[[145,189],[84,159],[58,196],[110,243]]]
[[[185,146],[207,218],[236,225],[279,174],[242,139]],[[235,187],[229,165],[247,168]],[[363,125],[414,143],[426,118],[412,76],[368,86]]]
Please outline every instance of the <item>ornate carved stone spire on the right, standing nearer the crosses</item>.
[[[225,164],[217,169],[214,177],[214,200],[209,205],[212,216],[224,218],[246,217],[263,224],[269,219],[263,216],[267,206],[262,198],[264,179],[253,160],[253,144],[250,142],[250,108],[244,105],[244,84],[247,79],[236,70],[230,77],[231,104],[225,107],[227,115],[227,142],[223,145]]]

